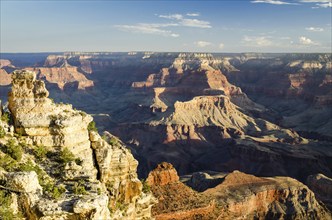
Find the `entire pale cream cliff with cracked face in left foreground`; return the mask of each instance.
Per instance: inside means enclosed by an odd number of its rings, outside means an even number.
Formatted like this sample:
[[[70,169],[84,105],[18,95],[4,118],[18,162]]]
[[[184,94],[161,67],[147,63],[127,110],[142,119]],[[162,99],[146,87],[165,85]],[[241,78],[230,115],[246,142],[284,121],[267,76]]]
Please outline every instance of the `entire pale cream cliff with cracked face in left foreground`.
[[[90,115],[53,103],[34,72],[13,72],[12,84],[9,110],[15,132],[21,136],[18,143],[24,141],[27,146],[15,169],[23,169],[21,163],[29,164],[34,158],[37,163],[30,174],[5,168],[6,187],[28,193],[28,198],[17,201],[25,207],[23,215],[29,219],[150,218],[153,197],[142,192],[136,173],[138,162],[123,143],[113,136],[107,142],[88,130],[92,126]],[[8,145],[10,135],[1,143]],[[47,156],[40,158],[36,149]],[[42,188],[31,191],[29,186],[39,185],[37,178]],[[54,194],[55,188],[60,193],[59,187],[63,194],[52,201],[50,193]]]

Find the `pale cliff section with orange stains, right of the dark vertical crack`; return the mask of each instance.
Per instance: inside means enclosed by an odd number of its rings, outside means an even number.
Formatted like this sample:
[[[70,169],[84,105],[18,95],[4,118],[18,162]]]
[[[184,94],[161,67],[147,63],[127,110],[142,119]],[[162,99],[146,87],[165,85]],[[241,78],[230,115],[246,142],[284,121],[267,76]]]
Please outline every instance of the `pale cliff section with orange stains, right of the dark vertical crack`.
[[[110,193],[110,207],[116,212],[113,219],[144,219],[151,217],[153,197],[142,193],[142,183],[137,178],[138,162],[123,143],[109,133],[105,140],[97,132],[90,132],[99,168],[100,181]],[[122,210],[117,207],[122,204]]]

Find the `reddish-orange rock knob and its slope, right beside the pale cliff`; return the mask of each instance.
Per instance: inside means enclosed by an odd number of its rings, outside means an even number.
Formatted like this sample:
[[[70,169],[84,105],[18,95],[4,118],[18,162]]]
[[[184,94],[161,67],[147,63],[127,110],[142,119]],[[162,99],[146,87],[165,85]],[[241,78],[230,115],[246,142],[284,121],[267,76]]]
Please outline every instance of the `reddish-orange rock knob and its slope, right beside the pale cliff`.
[[[214,202],[181,183],[172,164],[159,164],[150,172],[146,183],[158,199],[152,208],[156,220],[195,219],[197,216],[211,219]]]

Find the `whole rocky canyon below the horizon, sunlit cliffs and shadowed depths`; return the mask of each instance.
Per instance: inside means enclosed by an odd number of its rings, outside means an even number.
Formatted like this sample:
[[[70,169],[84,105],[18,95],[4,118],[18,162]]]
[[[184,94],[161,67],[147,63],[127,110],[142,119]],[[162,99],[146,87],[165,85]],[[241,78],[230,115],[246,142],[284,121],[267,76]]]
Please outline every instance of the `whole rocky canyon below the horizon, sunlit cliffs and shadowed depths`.
[[[331,218],[331,54],[16,56],[1,56],[7,135],[80,158],[55,184],[75,213],[58,204],[52,210],[61,215]],[[92,120],[99,134],[87,130]],[[52,156],[46,161],[58,166]],[[3,175],[9,183],[25,178]],[[95,202],[73,195],[80,179]]]

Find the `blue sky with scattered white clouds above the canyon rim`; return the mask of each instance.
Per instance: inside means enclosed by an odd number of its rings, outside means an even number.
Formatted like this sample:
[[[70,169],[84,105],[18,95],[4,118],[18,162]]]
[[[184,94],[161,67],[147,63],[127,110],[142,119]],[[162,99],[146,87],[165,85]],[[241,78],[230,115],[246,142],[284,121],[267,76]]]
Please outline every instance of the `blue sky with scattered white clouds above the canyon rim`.
[[[1,52],[332,52],[331,0],[1,1]]]

